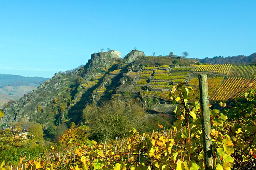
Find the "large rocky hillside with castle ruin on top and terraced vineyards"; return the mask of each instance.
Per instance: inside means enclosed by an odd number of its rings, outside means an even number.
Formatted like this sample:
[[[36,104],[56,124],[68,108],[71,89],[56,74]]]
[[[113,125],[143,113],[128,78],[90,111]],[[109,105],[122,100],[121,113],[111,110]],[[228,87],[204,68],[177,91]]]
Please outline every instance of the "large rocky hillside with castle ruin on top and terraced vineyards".
[[[4,106],[0,124],[35,121],[47,129],[51,122],[80,123],[86,104],[100,104],[115,97],[137,98],[151,113],[172,113],[172,84],[186,82],[198,96],[199,73],[208,74],[210,100],[213,107],[218,107],[214,103],[239,100],[255,82],[253,65],[201,65],[198,60],[182,57],[145,56],[138,50],[132,50],[124,59],[120,56],[114,50],[92,54],[85,66],[55,74],[27,96]],[[192,101],[195,96],[189,96]]]

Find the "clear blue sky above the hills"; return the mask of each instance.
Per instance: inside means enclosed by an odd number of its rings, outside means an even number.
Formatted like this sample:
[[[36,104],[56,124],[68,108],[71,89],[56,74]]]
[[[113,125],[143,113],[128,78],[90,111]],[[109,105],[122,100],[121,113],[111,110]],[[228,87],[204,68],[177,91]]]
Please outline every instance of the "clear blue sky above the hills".
[[[256,1],[0,0],[0,73],[51,78],[100,48],[189,57],[256,52]]]

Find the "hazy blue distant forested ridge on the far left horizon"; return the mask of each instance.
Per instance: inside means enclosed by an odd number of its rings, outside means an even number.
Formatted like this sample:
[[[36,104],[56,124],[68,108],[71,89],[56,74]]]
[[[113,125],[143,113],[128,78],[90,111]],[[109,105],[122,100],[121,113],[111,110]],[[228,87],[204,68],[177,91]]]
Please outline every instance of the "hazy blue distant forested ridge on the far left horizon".
[[[23,77],[20,75],[0,74],[0,88],[4,86],[29,86],[31,84],[40,85],[48,80],[43,77]]]

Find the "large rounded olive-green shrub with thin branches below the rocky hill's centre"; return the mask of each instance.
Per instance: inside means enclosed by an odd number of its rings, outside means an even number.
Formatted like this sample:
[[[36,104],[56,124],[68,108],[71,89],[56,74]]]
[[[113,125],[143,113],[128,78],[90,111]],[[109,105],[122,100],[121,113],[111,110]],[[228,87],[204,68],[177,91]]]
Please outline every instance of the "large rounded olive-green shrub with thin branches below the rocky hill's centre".
[[[89,124],[91,138],[102,141],[126,137],[132,128],[142,129],[144,116],[143,107],[134,100],[112,99],[101,106],[87,105],[82,118]]]

